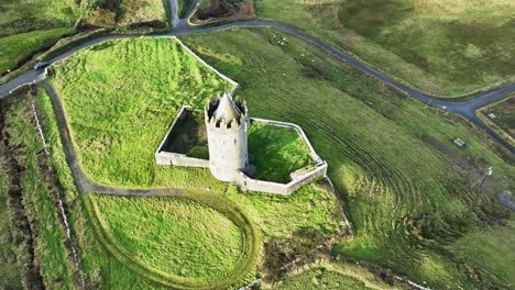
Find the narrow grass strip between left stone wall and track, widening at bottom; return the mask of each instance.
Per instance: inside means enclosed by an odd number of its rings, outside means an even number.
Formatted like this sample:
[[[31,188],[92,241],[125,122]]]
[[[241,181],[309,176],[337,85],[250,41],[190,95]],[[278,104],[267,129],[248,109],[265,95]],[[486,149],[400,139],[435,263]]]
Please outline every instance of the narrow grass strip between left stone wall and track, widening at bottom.
[[[80,253],[80,269],[86,277],[86,288],[108,289],[166,289],[139,275],[130,267],[113,258],[103,246],[96,231],[96,217],[87,211],[86,204],[90,197],[80,196],[66,163],[63,145],[57,127],[57,121],[50,97],[41,92],[36,99],[36,108],[41,114],[43,131],[52,155],[52,165],[65,190],[66,202],[73,207],[70,224],[77,237]]]

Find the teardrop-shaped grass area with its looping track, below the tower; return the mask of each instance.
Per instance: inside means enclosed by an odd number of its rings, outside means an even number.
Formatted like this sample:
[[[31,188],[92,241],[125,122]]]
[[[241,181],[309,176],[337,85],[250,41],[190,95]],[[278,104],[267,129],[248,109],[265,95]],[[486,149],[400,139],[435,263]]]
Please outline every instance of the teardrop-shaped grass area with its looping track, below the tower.
[[[165,286],[229,287],[254,267],[260,252],[252,222],[212,193],[87,199],[97,235],[109,252],[142,277]]]

